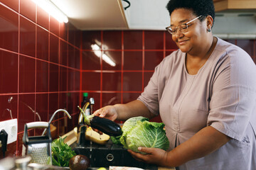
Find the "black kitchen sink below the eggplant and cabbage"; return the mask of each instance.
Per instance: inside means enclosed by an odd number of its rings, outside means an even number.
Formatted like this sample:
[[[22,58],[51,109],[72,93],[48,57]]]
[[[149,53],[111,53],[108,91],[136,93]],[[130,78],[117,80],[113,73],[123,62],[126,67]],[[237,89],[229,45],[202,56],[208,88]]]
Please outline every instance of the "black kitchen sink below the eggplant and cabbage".
[[[106,145],[98,145],[87,141],[85,146],[73,143],[70,147],[73,148],[76,154],[87,156],[90,159],[91,167],[130,166],[151,170],[158,169],[156,165],[137,161],[127,152],[127,149],[122,145],[113,144],[111,140]]]

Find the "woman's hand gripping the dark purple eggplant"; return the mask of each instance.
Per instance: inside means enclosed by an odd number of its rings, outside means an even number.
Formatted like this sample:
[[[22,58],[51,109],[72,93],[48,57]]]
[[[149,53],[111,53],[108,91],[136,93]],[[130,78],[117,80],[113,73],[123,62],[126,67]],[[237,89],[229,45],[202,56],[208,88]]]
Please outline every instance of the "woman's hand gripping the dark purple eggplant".
[[[105,106],[100,108],[95,111],[93,115],[100,116],[101,118],[107,118],[112,121],[116,120],[118,117],[117,109],[114,106]]]

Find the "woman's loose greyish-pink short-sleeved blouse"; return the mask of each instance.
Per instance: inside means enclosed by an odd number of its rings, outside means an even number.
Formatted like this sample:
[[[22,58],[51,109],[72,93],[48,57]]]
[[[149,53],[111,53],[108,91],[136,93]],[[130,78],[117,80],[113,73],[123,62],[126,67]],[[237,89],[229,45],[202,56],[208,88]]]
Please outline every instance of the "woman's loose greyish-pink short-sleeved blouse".
[[[138,100],[161,115],[170,149],[212,126],[232,138],[179,169],[256,169],[256,66],[240,47],[218,38],[208,61],[188,74],[177,50],[156,67]]]

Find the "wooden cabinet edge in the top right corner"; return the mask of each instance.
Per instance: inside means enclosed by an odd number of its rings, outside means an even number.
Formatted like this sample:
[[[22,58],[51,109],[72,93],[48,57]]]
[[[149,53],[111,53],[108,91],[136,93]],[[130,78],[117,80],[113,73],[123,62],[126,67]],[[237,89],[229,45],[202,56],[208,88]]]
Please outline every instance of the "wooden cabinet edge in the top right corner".
[[[255,0],[213,0],[215,11],[255,10]]]

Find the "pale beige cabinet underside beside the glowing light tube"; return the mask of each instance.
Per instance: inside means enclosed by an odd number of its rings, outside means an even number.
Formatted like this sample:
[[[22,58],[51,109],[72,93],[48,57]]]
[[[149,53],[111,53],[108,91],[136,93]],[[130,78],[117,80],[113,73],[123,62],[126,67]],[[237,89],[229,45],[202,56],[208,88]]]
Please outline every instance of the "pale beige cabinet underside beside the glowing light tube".
[[[121,0],[51,0],[79,30],[127,29]],[[125,4],[127,6],[127,4]]]

